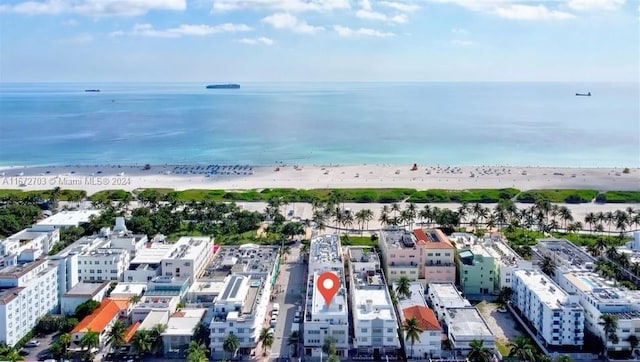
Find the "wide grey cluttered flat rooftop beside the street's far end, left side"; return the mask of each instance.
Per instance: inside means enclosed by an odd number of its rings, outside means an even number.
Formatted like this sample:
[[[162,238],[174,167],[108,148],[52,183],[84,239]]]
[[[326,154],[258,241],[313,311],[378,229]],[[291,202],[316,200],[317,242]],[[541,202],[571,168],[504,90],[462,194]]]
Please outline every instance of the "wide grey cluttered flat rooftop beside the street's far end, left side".
[[[220,246],[200,278],[224,280],[227,275],[268,275],[276,263],[279,246],[244,244]]]

